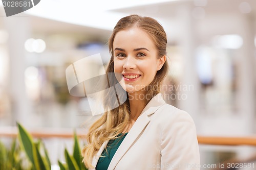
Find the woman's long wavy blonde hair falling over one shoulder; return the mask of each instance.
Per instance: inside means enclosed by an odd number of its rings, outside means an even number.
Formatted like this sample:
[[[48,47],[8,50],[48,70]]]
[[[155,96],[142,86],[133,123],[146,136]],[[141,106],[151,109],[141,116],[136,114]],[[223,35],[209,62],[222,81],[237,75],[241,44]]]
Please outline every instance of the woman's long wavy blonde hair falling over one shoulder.
[[[113,59],[113,41],[116,34],[119,31],[125,29],[131,29],[133,27],[140,28],[144,30],[148,35],[152,37],[152,40],[155,42],[158,58],[166,55],[166,45],[167,38],[166,33],[160,23],[151,18],[151,17],[142,17],[138,15],[130,15],[121,18],[109,39],[109,51],[111,54],[111,59],[106,69],[106,72],[114,72],[114,59]],[[165,62],[160,70],[157,71],[155,78],[150,85],[145,87],[145,95],[147,98],[144,99],[145,105],[157,94],[160,92],[160,83],[163,81],[164,77],[168,72],[168,64]],[[108,77],[109,86],[113,86],[118,83],[116,78]],[[157,88],[155,88],[157,87]],[[116,96],[113,96],[116,95]],[[124,92],[124,95],[127,96],[127,93]],[[113,99],[118,99],[117,94],[106,93],[105,96],[109,98],[103,99],[103,104],[105,107],[110,107],[109,105],[113,103]],[[150,96],[150,97],[148,97]],[[120,96],[119,96],[120,98]],[[93,156],[99,151],[101,145],[106,140],[111,140],[117,138],[117,135],[122,133],[127,127],[130,121],[130,105],[129,98],[119,105],[119,107],[112,109],[111,111],[103,113],[103,115],[96,120],[96,122],[91,126],[87,135],[88,144],[82,149],[83,162],[87,167],[92,167]]]

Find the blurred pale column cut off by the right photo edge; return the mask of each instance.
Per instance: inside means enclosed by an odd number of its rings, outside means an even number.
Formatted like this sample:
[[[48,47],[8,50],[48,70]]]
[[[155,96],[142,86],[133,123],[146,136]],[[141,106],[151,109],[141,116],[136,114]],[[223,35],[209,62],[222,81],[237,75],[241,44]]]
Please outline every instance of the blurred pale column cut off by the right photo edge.
[[[241,15],[241,30],[243,46],[239,54],[239,91],[238,104],[240,115],[247,124],[247,133],[255,132],[255,46],[254,46],[254,18],[250,14]]]

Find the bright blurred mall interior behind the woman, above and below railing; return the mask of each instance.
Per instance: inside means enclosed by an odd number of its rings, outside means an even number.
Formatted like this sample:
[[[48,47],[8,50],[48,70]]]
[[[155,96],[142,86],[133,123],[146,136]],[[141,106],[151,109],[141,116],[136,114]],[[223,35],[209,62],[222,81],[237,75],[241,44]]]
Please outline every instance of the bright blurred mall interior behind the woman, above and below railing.
[[[106,42],[130,14],[164,27],[170,61],[164,97],[193,117],[198,135],[255,135],[255,0],[43,0],[10,17],[0,3],[0,129],[19,122],[29,130],[86,131],[95,117],[86,98],[69,94],[65,70],[97,53],[108,64]],[[104,70],[93,60],[84,67],[88,74]],[[53,162],[65,140],[46,140]],[[255,153],[255,147],[200,144],[201,164],[253,162]]]

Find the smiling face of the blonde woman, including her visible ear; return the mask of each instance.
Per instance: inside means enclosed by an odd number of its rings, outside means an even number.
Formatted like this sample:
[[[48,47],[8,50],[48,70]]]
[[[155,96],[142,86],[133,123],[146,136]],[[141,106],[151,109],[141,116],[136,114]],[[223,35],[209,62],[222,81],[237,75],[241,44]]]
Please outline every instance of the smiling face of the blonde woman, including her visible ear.
[[[139,91],[150,84],[166,59],[166,56],[157,58],[154,41],[137,27],[119,31],[113,50],[114,72],[127,92]]]

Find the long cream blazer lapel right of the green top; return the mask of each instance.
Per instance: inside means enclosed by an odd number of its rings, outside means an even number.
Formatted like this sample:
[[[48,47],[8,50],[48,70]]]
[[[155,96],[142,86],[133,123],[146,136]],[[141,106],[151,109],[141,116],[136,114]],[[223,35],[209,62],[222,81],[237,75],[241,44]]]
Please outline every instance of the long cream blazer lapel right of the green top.
[[[165,101],[163,100],[162,95],[159,93],[146,105],[141,115],[138,117],[135,124],[120,144],[118,150],[110,162],[108,170],[112,170],[116,167],[119,160],[130,149],[131,145],[136,141],[146,125],[150,123],[150,118],[148,116],[155,113],[156,110],[163,104],[165,104]]]

